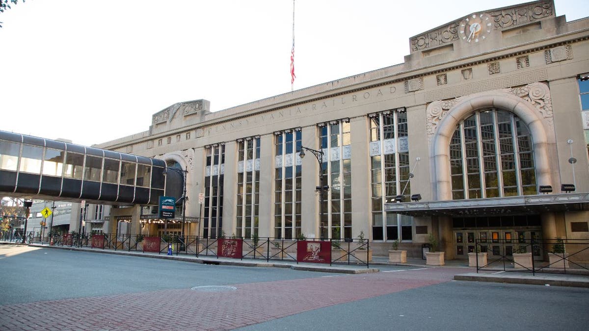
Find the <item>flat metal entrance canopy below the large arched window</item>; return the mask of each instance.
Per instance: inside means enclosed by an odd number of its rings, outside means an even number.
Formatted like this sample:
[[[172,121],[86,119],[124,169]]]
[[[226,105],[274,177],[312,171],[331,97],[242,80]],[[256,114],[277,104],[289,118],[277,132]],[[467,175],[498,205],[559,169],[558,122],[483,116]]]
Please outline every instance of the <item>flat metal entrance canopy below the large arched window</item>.
[[[408,216],[491,216],[581,210],[589,210],[589,193],[385,204],[385,211]]]

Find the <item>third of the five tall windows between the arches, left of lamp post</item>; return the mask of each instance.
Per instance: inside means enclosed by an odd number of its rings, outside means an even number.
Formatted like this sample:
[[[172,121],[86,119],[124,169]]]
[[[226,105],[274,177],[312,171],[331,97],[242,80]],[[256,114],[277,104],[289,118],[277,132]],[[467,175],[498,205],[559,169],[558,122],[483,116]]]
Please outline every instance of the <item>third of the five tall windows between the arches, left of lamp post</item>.
[[[301,177],[297,151],[300,128],[274,133],[274,237],[296,239],[301,233]]]

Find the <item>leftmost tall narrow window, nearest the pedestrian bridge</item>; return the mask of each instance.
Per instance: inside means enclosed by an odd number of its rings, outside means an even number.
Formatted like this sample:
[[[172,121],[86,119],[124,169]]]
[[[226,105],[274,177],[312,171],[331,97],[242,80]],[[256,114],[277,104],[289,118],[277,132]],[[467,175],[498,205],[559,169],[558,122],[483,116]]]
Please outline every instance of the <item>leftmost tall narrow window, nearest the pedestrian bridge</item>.
[[[225,144],[206,147],[207,166],[204,177],[203,236],[216,238],[223,228],[223,177]]]

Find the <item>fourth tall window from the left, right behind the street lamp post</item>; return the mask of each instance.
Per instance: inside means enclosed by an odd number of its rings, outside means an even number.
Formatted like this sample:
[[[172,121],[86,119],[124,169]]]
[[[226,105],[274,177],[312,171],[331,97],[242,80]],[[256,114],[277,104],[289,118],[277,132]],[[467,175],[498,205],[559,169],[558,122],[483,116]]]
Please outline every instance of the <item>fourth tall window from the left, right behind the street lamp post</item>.
[[[322,237],[352,238],[352,148],[350,120],[330,121],[319,126],[320,148],[323,151],[321,176],[329,185],[324,192],[320,211]]]

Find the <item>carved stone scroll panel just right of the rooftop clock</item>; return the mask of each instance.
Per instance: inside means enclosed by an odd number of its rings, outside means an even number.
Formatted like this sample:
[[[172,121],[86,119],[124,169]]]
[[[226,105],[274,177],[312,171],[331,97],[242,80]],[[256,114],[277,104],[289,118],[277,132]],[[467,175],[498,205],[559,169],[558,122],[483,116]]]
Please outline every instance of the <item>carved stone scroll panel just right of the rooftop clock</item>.
[[[554,16],[554,9],[552,8],[552,1],[544,1],[540,4],[524,4],[504,8],[500,11],[488,12],[487,15],[493,19],[494,28],[503,29]]]

